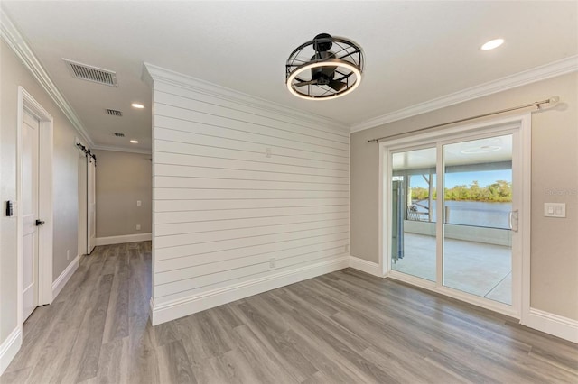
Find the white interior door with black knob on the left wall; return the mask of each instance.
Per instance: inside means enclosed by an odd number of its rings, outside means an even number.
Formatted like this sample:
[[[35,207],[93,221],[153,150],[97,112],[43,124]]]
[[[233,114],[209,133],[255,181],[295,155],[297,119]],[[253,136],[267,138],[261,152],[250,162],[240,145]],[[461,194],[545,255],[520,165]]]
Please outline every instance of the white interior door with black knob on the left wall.
[[[38,306],[38,137],[40,123],[23,112],[22,217],[23,217],[23,321]],[[39,222],[40,223],[40,222]]]

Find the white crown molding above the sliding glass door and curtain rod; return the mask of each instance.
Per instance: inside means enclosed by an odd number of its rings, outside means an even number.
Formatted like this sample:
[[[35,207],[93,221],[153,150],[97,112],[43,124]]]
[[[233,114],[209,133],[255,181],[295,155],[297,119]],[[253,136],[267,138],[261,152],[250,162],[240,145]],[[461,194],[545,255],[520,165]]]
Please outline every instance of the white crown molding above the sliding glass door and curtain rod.
[[[527,84],[535,83],[536,81],[545,80],[546,78],[555,78],[556,76],[575,72],[577,70],[578,55],[570,56],[565,59],[545,64],[543,66],[527,69],[505,78],[499,78],[497,80],[481,84],[480,86],[467,88],[450,95],[434,98],[433,100],[429,100],[424,103],[398,109],[397,111],[374,117],[372,119],[366,120],[365,122],[353,124],[351,125],[351,133],[364,131],[386,123],[393,123],[398,120],[403,120],[408,117],[415,116],[417,114],[425,114],[427,112],[435,111],[450,105],[460,104],[464,101],[472,100],[482,96],[489,96],[491,94],[502,92],[511,88],[525,86]]]

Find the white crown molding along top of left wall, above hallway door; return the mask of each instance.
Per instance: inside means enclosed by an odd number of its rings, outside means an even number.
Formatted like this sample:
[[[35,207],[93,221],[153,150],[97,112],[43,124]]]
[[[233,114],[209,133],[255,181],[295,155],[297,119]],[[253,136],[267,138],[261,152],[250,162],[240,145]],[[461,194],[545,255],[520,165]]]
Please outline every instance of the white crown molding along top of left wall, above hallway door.
[[[48,73],[46,73],[46,70],[42,67],[41,62],[36,58],[33,50],[23,38],[23,35],[18,31],[2,8],[0,8],[0,36],[6,41],[6,44],[14,50],[16,56],[23,62],[24,67],[30,70],[33,77],[36,78],[46,93],[51,96],[54,103],[61,108],[62,113],[70,120],[70,123],[82,138],[93,147],[94,142],[90,138],[89,133],[84,129],[79,116],[74,112],[58,87],[52,82]]]

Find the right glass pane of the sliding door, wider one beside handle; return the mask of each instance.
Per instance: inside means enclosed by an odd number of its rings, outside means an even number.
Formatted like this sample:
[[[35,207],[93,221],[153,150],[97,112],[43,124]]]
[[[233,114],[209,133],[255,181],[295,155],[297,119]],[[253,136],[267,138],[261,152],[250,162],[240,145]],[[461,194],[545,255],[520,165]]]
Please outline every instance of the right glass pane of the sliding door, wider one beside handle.
[[[512,135],[443,146],[443,285],[511,305]]]

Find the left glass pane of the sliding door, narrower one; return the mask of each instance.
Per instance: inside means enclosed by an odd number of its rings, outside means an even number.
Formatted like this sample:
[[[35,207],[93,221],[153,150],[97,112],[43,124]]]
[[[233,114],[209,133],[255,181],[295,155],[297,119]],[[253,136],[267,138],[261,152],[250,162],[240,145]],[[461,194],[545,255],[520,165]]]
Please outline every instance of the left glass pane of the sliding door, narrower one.
[[[391,160],[391,268],[435,281],[435,148]]]

